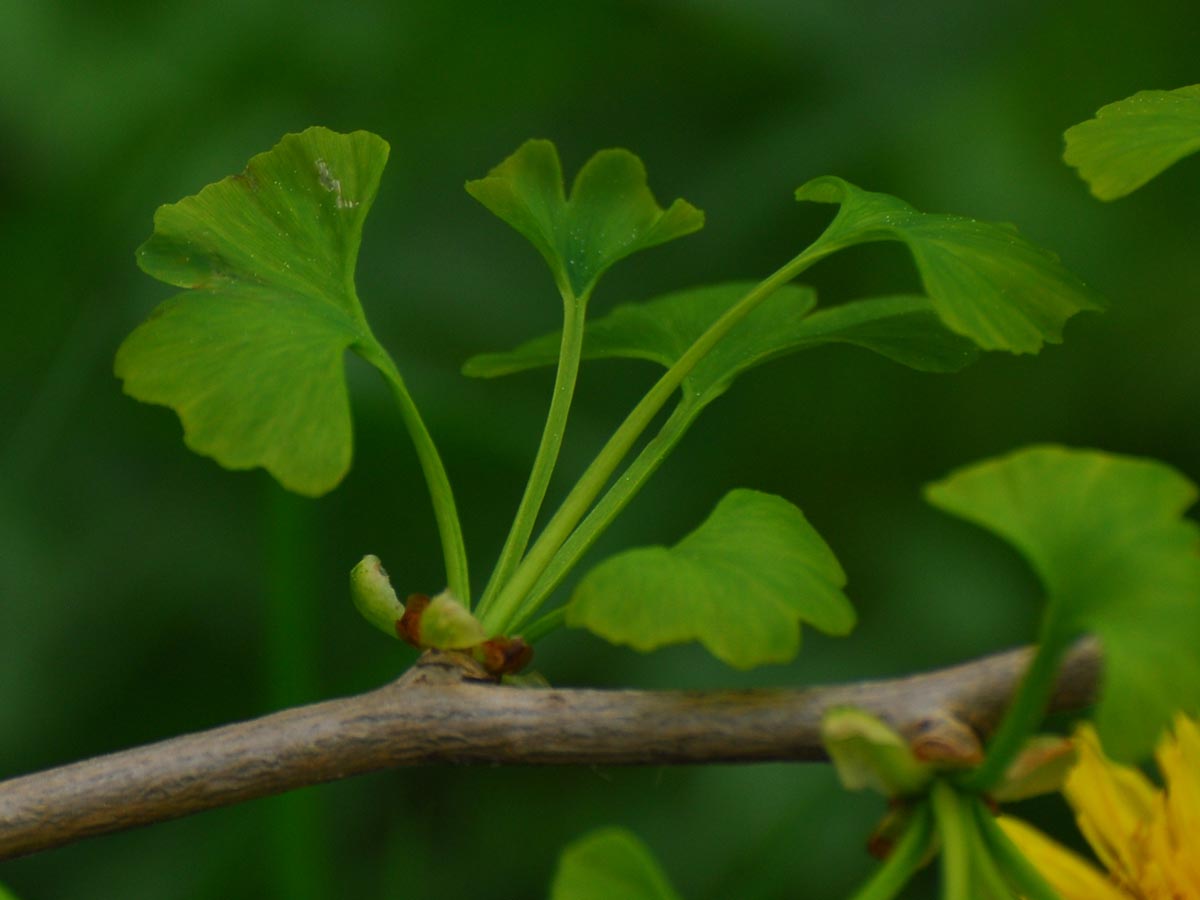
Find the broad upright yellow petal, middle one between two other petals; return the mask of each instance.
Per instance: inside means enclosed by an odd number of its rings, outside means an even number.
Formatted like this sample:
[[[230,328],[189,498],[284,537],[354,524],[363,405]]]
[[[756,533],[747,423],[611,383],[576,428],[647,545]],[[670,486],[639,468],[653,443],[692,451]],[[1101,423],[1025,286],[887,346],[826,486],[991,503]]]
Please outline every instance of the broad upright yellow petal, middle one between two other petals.
[[[1079,762],[1063,793],[1079,830],[1117,882],[1136,884],[1142,869],[1139,842],[1154,820],[1158,791],[1138,769],[1109,760],[1091,726],[1079,730],[1076,742]]]

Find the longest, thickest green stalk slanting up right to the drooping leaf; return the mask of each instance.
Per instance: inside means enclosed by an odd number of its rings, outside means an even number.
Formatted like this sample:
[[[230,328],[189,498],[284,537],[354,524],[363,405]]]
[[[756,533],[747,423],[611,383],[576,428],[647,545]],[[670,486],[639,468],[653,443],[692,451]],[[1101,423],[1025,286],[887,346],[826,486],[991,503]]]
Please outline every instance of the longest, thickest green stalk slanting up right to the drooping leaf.
[[[646,431],[658,412],[678,390],[683,379],[704,358],[704,354],[713,349],[734,325],[742,322],[763,300],[812,265],[812,263],[832,252],[832,248],[821,246],[821,241],[818,240],[778,269],[773,275],[760,282],[745,296],[738,300],[737,304],[730,307],[721,318],[714,322],[703,335],[696,338],[696,342],[688,348],[688,352],[650,388],[641,402],[625,418],[625,421],[608,438],[608,443],[604,445],[604,449],[592,461],[592,464],[566,496],[566,499],[563,500],[558,511],[554,512],[553,517],[546,524],[545,530],[534,541],[528,556],[517,566],[508,584],[496,596],[494,604],[480,617],[485,630],[490,634],[503,634],[509,629],[526,596],[534,588],[550,564],[550,560],[554,557],[554,553],[558,552],[558,548],[571,535],[571,532],[575,530],[575,526],[587,514],[592,503],[600,494],[600,491],[604,490],[604,486],[608,482],[613,472],[617,470],[617,467],[620,466],[620,461],[632,449],[642,432]]]

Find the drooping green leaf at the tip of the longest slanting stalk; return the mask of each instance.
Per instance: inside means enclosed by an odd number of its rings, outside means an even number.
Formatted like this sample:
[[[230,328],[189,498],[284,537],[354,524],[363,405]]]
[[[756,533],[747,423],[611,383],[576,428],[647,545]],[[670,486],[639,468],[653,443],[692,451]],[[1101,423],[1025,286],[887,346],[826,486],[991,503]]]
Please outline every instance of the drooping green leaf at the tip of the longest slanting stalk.
[[[841,205],[814,245],[823,254],[871,241],[908,247],[942,322],[986,350],[1037,353],[1058,343],[1067,319],[1098,298],[1058,258],[1010,224],[918,212],[904,200],[817,178],[796,199]]]

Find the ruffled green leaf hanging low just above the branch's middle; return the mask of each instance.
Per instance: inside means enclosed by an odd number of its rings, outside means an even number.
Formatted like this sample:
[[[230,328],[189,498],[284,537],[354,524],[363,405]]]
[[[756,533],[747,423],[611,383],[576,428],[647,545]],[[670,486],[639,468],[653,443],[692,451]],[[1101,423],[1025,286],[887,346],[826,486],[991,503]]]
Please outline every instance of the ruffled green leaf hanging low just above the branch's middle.
[[[673,547],[629,550],[588,572],[566,624],[638,650],[700,641],[750,668],[792,659],[800,622],[847,634],[854,610],[845,583],[833,551],[796,506],[737,490]]]

